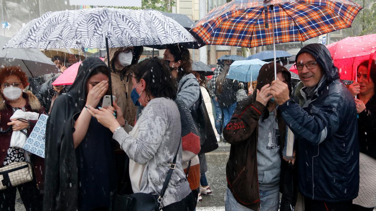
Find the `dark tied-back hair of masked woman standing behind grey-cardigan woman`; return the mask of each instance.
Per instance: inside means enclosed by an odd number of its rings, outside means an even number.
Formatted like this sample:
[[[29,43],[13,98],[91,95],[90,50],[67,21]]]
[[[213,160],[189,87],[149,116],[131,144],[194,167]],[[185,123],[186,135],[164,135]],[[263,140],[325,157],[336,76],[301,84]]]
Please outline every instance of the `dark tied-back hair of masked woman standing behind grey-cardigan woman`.
[[[184,75],[192,73],[192,59],[188,48],[181,45],[168,45],[166,49],[174,56],[175,62],[182,61],[182,65],[177,70],[177,80],[182,79]]]

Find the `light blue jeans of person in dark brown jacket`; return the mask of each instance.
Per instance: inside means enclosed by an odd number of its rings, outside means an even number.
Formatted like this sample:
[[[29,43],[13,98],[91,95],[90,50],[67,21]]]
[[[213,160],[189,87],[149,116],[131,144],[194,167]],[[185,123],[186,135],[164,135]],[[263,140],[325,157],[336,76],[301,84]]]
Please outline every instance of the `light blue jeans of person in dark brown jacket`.
[[[278,211],[279,208],[279,187],[273,190],[259,191],[260,211]],[[229,188],[224,196],[224,208],[226,211],[253,211],[241,205],[233,197]]]

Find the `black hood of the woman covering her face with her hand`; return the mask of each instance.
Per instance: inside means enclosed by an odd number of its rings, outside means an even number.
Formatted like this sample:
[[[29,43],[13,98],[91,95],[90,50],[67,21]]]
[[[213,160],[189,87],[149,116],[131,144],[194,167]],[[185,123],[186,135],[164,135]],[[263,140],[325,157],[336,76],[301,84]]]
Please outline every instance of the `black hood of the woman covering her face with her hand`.
[[[98,57],[89,57],[83,60],[81,65],[78,68],[77,77],[74,80],[73,84],[70,86],[68,93],[73,96],[73,99],[76,101],[76,109],[81,110],[85,105],[86,101],[86,81],[91,76],[92,71],[99,67],[107,67]]]

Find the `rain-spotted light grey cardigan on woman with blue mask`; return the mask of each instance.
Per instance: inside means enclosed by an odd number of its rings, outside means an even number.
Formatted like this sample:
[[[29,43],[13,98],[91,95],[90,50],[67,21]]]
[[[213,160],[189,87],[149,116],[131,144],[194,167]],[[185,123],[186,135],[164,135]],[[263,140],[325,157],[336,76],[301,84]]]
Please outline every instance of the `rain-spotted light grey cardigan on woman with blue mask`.
[[[137,138],[133,138],[123,129],[117,130],[113,138],[130,159],[138,164],[145,164],[141,192],[159,195],[181,141],[180,113],[171,99],[155,98],[144,108],[137,124]],[[162,199],[162,206],[179,202],[191,192],[181,163],[180,145],[176,168]]]

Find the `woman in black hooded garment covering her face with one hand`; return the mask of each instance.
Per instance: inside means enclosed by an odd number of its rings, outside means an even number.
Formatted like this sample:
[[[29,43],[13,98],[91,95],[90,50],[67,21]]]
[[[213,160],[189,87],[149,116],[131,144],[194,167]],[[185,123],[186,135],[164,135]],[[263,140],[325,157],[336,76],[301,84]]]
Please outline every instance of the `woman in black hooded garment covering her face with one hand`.
[[[47,121],[44,210],[108,210],[116,188],[112,133],[86,108],[100,108],[108,67],[85,59]],[[124,123],[122,123],[124,124]]]

